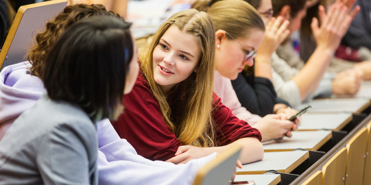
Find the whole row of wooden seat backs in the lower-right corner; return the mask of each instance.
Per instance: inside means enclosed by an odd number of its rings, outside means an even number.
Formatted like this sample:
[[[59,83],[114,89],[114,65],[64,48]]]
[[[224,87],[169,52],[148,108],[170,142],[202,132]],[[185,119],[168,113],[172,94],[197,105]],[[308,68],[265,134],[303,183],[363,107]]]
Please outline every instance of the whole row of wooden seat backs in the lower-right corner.
[[[303,184],[371,184],[371,121]]]

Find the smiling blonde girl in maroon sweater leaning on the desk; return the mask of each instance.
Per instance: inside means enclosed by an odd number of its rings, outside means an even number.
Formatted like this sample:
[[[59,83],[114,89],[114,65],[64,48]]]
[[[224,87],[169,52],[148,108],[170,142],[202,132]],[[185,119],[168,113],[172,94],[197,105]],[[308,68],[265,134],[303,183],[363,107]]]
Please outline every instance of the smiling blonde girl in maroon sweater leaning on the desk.
[[[213,94],[215,36],[205,12],[171,16],[140,57],[141,73],[112,123],[141,156],[188,162],[238,143],[242,163],[263,158],[261,134]],[[186,145],[186,146],[182,146]],[[182,146],[182,147],[180,147]]]

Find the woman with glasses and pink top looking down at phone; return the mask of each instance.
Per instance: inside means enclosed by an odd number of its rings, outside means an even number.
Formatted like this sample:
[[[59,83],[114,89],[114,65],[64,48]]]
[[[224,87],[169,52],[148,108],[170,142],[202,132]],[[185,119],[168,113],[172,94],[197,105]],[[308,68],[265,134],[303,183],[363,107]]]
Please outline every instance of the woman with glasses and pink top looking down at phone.
[[[222,99],[224,105],[231,109],[232,114],[256,127],[261,132],[263,141],[291,136],[290,131],[294,122],[287,121],[286,115],[270,114],[261,119],[261,116],[251,114],[241,106],[230,83],[230,79],[236,79],[245,66],[252,66],[254,63],[256,49],[265,33],[258,12],[243,1],[205,3],[196,1],[193,7],[206,10],[215,25],[217,43],[213,86],[215,93]],[[243,5],[248,8],[241,10],[240,7]],[[254,97],[253,90],[245,93],[251,95],[251,98]],[[294,111],[287,116],[294,114]]]

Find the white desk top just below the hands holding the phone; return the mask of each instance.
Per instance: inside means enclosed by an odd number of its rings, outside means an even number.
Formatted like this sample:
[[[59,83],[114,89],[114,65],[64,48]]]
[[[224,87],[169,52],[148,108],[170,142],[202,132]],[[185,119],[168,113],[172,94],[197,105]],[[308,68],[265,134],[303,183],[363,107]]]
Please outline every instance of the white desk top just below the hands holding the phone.
[[[263,143],[265,152],[272,151],[293,151],[294,149],[318,150],[332,136],[331,131],[300,131],[292,132],[291,138],[283,138],[279,142],[272,140]]]

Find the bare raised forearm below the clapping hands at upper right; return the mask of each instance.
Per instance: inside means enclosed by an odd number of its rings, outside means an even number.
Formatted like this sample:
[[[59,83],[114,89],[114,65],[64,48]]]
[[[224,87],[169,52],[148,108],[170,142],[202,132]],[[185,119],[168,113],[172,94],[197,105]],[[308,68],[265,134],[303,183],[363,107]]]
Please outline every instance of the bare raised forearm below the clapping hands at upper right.
[[[330,49],[317,47],[311,58],[309,58],[307,64],[305,64],[302,70],[292,78],[298,86],[302,100],[317,88],[328,67],[332,55],[333,51]]]

